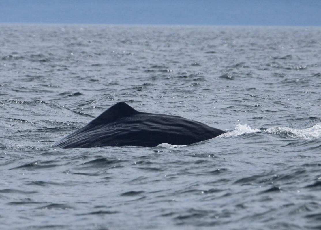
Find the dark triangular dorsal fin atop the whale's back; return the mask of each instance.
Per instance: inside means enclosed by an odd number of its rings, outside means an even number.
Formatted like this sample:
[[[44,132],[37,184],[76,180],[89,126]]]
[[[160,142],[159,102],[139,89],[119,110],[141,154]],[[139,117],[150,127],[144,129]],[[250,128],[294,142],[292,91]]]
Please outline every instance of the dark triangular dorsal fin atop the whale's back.
[[[138,113],[138,111],[127,105],[125,102],[118,102],[92,120],[92,123],[110,123],[121,117],[131,116],[136,113]]]

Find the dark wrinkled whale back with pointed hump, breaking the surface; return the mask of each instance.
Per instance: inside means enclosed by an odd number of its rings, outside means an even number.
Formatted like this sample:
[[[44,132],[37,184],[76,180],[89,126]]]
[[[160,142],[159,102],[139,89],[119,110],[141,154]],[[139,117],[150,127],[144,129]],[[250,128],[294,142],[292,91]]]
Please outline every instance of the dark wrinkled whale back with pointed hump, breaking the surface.
[[[190,145],[225,131],[180,116],[140,112],[118,102],[85,126],[56,142],[60,148]]]

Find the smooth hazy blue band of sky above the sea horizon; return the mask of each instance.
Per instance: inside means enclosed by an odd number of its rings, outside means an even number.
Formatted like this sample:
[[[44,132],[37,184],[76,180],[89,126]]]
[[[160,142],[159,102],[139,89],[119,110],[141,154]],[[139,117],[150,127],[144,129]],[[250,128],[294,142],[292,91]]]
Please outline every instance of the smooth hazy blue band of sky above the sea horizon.
[[[0,23],[321,26],[321,0],[0,0]]]

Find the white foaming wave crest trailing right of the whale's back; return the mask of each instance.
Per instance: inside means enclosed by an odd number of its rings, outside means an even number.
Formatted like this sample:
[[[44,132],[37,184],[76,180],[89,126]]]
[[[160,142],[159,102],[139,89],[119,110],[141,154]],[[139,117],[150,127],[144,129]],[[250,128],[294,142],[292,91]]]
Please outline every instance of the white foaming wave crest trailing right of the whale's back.
[[[305,129],[295,129],[290,127],[271,127],[271,128],[260,128],[252,129],[247,124],[238,124],[234,125],[235,129],[230,132],[221,134],[216,138],[224,137],[236,137],[244,133],[253,133],[253,132],[266,132],[270,134],[276,134],[284,138],[294,138],[301,140],[310,140],[321,137],[321,123],[317,123],[310,128]]]

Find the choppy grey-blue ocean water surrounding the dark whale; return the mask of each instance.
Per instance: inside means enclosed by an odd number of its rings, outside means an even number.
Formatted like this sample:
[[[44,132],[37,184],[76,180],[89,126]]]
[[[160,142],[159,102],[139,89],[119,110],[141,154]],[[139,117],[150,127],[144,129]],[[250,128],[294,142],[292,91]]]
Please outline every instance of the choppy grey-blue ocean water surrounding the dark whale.
[[[52,145],[117,102],[227,131]],[[320,229],[321,28],[0,24],[0,229]]]

